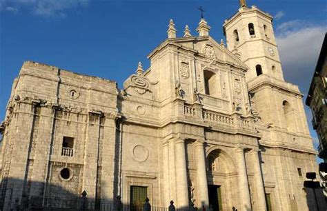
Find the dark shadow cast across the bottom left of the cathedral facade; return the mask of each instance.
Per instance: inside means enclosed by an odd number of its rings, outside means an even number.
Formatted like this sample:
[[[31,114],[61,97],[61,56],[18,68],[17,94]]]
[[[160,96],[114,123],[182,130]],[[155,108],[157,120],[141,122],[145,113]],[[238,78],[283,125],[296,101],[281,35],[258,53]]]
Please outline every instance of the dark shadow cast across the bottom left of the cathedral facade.
[[[189,211],[197,208],[175,208],[174,202],[166,208],[154,207],[148,198],[143,203],[132,205],[122,203],[121,197],[115,199],[103,199],[101,197],[89,198],[87,192],[81,194],[70,192],[59,185],[46,184],[43,182],[19,179],[3,179],[1,183],[0,210],[108,210],[108,211]],[[21,188],[23,187],[23,188]],[[31,190],[30,187],[38,187],[39,190]],[[41,190],[47,190],[40,192]],[[39,194],[35,194],[39,193]],[[20,197],[17,197],[20,196]],[[199,209],[201,210],[201,209]],[[207,209],[208,210],[208,209]]]

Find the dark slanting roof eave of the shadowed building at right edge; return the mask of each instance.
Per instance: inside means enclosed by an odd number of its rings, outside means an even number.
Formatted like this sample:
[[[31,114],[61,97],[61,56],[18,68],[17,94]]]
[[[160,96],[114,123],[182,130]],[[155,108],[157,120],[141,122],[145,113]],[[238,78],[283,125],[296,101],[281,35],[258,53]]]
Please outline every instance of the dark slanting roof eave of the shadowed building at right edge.
[[[321,46],[320,54],[319,54],[318,61],[317,61],[317,66],[315,68],[315,72],[313,73],[313,78],[311,79],[308,96],[306,97],[306,106],[310,107],[311,96],[313,94],[313,80],[315,79],[315,77],[317,77],[317,76],[319,76],[319,74],[321,74],[322,65],[324,64],[326,55],[327,55],[327,32],[325,33],[325,38],[324,38],[324,41]]]

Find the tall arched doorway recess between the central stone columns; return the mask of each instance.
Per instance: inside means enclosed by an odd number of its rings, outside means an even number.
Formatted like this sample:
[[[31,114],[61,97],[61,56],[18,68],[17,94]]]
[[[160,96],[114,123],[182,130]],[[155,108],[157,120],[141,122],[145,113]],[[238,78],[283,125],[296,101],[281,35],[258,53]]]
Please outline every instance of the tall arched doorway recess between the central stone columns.
[[[220,149],[211,150],[206,159],[209,205],[214,211],[237,207],[237,171],[232,158]]]

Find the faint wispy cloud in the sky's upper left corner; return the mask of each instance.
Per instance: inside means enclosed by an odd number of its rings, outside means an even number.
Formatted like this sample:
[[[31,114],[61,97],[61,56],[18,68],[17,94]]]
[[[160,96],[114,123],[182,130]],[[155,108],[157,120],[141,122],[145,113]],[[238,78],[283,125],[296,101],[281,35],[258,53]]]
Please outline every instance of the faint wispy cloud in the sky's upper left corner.
[[[90,0],[2,0],[0,10],[17,12],[30,10],[41,17],[66,17],[69,9],[88,6]]]

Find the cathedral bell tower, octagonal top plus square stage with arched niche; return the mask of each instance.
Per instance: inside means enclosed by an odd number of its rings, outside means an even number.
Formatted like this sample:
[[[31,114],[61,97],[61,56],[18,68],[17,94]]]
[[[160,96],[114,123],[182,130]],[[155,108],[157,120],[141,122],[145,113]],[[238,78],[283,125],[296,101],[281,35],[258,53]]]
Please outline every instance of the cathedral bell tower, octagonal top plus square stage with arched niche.
[[[248,8],[246,1],[240,0],[239,10],[225,21],[224,32],[228,50],[248,66],[246,83],[251,106],[268,128],[274,128],[271,135],[275,141],[286,134],[300,139],[300,133],[309,140],[303,95],[297,86],[284,81],[273,17],[255,6]]]

